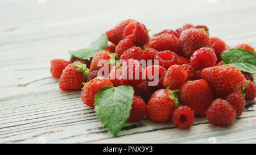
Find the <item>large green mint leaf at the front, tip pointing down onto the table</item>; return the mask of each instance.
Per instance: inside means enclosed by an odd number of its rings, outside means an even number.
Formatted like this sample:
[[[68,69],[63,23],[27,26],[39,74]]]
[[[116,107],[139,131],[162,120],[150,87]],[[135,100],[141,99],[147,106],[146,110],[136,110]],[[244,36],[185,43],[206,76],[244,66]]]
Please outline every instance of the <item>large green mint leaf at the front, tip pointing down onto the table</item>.
[[[98,119],[114,136],[129,118],[133,97],[133,87],[124,85],[106,85],[95,96],[94,110]]]

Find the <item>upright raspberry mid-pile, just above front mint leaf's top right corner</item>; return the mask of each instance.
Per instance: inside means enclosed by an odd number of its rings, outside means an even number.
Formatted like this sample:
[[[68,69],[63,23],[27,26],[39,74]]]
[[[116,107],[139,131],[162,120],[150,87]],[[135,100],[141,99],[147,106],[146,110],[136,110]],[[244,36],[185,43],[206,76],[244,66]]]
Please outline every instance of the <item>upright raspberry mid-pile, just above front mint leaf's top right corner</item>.
[[[143,82],[143,69],[138,60],[128,59],[123,62],[122,79],[127,79],[129,85],[137,86]]]

